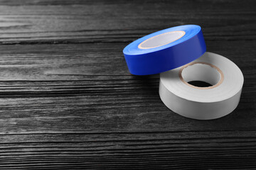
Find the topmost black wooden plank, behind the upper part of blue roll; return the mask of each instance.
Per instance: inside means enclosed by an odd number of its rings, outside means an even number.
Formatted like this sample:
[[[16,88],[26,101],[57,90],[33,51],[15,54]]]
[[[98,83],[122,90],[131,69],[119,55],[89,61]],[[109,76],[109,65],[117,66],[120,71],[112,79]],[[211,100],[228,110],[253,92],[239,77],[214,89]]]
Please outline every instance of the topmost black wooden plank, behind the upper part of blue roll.
[[[202,26],[207,40],[255,40],[255,1],[0,1],[0,42],[131,42]]]

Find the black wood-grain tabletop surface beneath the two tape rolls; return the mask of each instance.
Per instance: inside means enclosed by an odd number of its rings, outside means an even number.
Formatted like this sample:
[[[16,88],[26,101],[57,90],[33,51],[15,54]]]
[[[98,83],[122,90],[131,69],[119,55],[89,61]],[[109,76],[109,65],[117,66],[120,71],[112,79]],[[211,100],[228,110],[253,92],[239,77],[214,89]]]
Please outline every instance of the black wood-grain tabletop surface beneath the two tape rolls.
[[[122,49],[203,28],[245,77],[217,120],[170,111]],[[0,169],[256,169],[255,1],[0,1]]]

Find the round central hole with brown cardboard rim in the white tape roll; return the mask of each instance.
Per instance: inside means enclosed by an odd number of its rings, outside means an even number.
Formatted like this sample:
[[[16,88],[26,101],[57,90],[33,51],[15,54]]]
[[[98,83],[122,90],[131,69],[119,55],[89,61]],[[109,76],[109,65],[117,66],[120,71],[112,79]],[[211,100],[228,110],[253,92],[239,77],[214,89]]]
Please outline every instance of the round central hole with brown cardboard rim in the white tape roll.
[[[221,84],[223,73],[212,64],[192,63],[181,69],[181,80],[197,89],[210,89]]]

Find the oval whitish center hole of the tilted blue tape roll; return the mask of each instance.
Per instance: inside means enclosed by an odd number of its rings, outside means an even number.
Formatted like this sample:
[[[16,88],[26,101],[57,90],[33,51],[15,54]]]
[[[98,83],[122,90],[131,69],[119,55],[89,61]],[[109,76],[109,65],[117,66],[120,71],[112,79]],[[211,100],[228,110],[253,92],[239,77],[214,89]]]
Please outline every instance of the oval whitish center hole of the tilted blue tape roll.
[[[160,47],[162,45],[169,44],[171,42],[174,42],[182,38],[183,35],[185,35],[185,31],[183,30],[176,30],[168,33],[162,33],[154,37],[151,37],[147,40],[144,40],[142,43],[139,44],[138,47],[141,49]]]

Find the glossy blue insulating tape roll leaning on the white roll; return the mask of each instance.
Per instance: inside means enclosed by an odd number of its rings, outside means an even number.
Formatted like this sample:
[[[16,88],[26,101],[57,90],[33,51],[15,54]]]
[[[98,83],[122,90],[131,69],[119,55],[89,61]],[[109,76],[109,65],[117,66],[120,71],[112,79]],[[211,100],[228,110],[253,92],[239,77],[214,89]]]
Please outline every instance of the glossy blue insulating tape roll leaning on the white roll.
[[[176,35],[171,37],[174,33]],[[181,38],[175,40],[175,36]],[[149,75],[166,72],[196,60],[206,52],[206,43],[200,26],[176,26],[139,38],[127,45],[123,52],[131,74]]]

